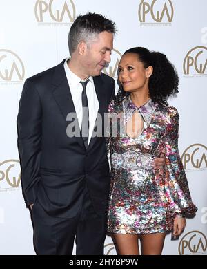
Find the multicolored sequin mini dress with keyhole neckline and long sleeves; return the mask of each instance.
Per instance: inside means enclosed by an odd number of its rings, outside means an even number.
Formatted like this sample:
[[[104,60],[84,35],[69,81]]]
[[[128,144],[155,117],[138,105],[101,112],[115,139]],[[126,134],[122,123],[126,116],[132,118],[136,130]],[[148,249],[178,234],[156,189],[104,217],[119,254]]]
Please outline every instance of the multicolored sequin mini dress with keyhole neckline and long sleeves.
[[[144,127],[137,138],[130,138],[122,131],[135,111],[139,111]],[[128,97],[119,105],[112,101],[109,112],[108,232],[150,234],[172,230],[177,214],[195,214],[197,210],[178,151],[177,109],[152,100],[137,108]],[[161,172],[153,169],[152,162],[162,149],[166,151],[166,166]]]

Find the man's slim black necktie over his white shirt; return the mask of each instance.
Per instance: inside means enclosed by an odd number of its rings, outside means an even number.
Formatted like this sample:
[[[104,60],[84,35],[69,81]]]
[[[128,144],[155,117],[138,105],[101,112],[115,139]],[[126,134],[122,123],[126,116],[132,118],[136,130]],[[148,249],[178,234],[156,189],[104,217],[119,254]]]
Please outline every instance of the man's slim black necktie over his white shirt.
[[[83,86],[82,91],[82,106],[83,106],[83,120],[82,120],[82,126],[81,126],[81,133],[84,141],[84,145],[86,149],[88,148],[88,129],[89,129],[89,111],[88,111],[88,99],[86,95],[86,85],[89,82],[89,80],[86,80],[85,82],[80,82]]]

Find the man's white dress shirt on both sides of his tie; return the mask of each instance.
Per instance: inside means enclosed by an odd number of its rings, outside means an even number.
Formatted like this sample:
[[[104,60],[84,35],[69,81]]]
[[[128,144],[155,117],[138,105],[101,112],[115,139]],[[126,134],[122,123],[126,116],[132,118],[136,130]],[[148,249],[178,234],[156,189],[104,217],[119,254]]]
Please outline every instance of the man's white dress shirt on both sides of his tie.
[[[68,58],[69,59],[69,58]],[[70,68],[68,67],[67,61],[64,63],[64,68],[66,72],[66,77],[68,80],[68,85],[70,87],[70,93],[72,95],[72,102],[75,106],[75,113],[77,114],[77,118],[79,121],[79,128],[82,126],[82,118],[83,118],[83,107],[82,107],[82,91],[83,86],[81,85],[80,77],[72,73]],[[86,86],[86,95],[88,98],[88,111],[89,111],[89,130],[88,130],[88,144],[90,142],[90,138],[92,136],[92,132],[95,126],[95,121],[97,118],[97,113],[99,111],[99,100],[97,98],[97,93],[95,91],[95,85],[92,77],[88,77],[89,82]]]

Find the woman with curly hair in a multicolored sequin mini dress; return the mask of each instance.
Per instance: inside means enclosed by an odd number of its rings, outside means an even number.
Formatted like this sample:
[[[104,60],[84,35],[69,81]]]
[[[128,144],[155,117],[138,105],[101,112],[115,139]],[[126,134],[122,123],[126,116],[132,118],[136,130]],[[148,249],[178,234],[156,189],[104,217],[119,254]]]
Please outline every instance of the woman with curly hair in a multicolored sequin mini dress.
[[[167,103],[178,93],[178,77],[166,55],[137,47],[121,57],[119,82],[109,106],[108,232],[118,254],[139,254],[140,239],[141,254],[158,255],[166,232],[179,236],[185,214],[197,210],[177,147],[179,114]],[[161,151],[166,152],[165,171],[152,167]]]

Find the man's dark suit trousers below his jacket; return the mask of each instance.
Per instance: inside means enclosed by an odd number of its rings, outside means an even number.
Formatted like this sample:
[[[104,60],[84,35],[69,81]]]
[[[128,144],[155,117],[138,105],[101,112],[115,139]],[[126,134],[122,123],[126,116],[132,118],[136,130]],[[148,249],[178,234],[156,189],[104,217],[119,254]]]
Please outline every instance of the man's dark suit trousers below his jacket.
[[[103,255],[106,215],[95,213],[88,191],[81,210],[72,219],[49,216],[36,201],[32,208],[34,250],[38,255]]]

